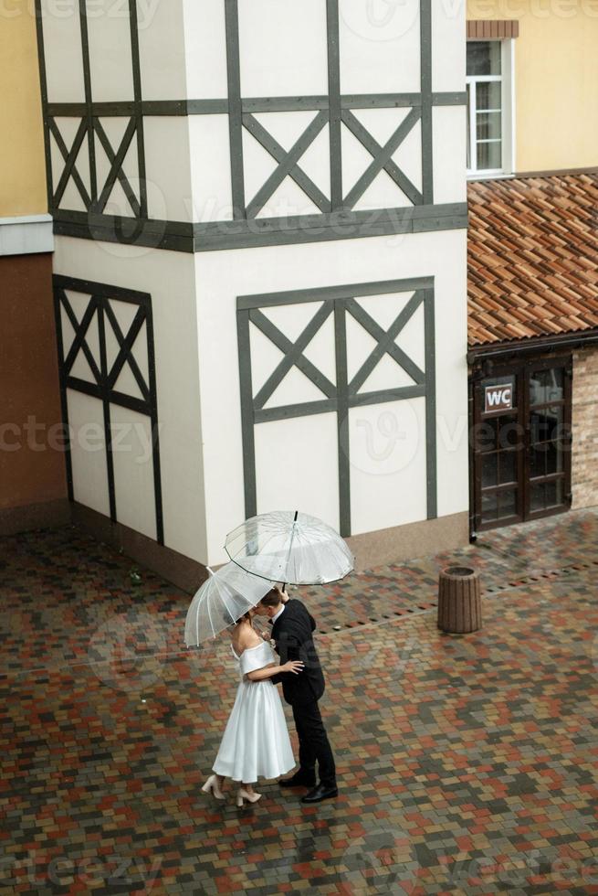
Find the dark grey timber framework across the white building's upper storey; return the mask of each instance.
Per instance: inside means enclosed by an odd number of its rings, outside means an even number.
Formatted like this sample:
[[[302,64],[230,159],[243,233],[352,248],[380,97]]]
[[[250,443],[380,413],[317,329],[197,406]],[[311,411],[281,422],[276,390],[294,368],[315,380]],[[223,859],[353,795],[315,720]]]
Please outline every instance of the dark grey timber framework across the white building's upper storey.
[[[45,123],[48,208],[54,217],[57,233],[84,239],[110,240],[161,246],[176,251],[212,251],[254,245],[279,245],[289,241],[353,239],[356,236],[382,233],[418,232],[433,229],[454,229],[467,226],[465,203],[434,204],[434,165],[432,110],[437,105],[461,105],[466,102],[463,91],[432,90],[432,0],[420,0],[420,84],[416,92],[404,93],[341,93],[341,59],[339,44],[339,0],[325,0],[328,84],[327,91],[317,96],[246,97],[242,95],[238,0],[222,0],[226,11],[226,96],[209,99],[145,100],[142,96],[137,3],[126,0],[131,38],[131,99],[98,101],[89,58],[88,2],[77,0],[83,65],[84,99],[78,102],[51,101],[47,92],[44,27],[41,0],[35,0],[40,88]],[[322,0],[324,2],[324,0]],[[243,48],[245,49],[245,48]],[[53,48],[53,51],[55,49]],[[380,144],[358,119],[363,109],[404,110],[404,120],[397,124],[388,141]],[[268,112],[314,113],[304,133],[290,148],[281,146],[268,133],[265,121],[256,115]],[[355,114],[357,112],[357,114]],[[226,115],[230,141],[230,178],[234,220],[183,222],[158,220],[148,215],[145,116]],[[68,140],[60,132],[60,120],[76,120],[74,137]],[[105,119],[126,119],[118,146],[106,132]],[[415,187],[404,171],[393,161],[393,155],[405,137],[417,126],[421,131],[421,187]],[[324,129],[330,144],[330,193],[325,195],[301,168],[299,162],[309,146]],[[357,139],[372,156],[362,176],[354,184],[342,180],[343,128]],[[244,163],[244,130],[257,140],[275,160],[277,167],[257,189],[246,196]],[[52,141],[58,148],[54,170]],[[114,146],[112,145],[114,144]],[[123,169],[131,145],[136,147],[134,181]],[[100,178],[98,153],[103,148],[108,160],[108,174]],[[87,156],[89,184],[85,182],[82,153]],[[373,179],[384,171],[399,187],[407,202],[399,208],[355,209]],[[266,204],[284,178],[289,176],[313,202],[313,215],[263,217]],[[132,174],[131,174],[132,177]],[[73,182],[84,210],[63,208],[69,181]],[[120,184],[131,214],[110,214],[108,202],[116,184]],[[261,214],[260,214],[261,213]],[[131,221],[139,226],[131,229]]]

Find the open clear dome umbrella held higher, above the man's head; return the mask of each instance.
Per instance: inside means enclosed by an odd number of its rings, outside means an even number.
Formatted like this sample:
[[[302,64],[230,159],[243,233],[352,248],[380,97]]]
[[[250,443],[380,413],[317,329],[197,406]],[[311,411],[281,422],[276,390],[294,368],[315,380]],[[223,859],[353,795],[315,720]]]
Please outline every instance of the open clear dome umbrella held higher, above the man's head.
[[[247,572],[291,585],[323,585],[353,569],[351,550],[338,532],[298,510],[247,519],[226,537],[231,560]]]

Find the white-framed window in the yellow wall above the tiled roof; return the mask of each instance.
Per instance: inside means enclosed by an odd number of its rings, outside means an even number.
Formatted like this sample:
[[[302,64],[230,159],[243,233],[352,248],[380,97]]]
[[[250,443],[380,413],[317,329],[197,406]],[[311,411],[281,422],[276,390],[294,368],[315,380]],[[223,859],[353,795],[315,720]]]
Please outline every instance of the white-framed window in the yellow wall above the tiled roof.
[[[467,175],[514,169],[513,41],[467,41]]]

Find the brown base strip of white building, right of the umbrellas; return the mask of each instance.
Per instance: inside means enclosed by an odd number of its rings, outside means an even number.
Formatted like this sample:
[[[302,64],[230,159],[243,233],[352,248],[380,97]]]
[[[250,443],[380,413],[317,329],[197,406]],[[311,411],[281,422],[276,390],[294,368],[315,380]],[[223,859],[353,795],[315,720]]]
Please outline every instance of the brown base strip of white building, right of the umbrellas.
[[[353,535],[347,539],[355,557],[355,571],[372,570],[397,560],[413,560],[441,550],[462,548],[469,541],[469,515],[424,519],[405,526]]]

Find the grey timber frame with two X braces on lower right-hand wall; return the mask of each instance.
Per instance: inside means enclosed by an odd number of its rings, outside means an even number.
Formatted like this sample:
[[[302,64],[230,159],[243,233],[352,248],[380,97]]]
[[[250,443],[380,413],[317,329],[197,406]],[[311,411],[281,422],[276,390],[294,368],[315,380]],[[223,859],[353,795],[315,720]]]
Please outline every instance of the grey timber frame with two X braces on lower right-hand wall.
[[[368,295],[384,293],[414,294],[385,330],[359,304]],[[274,325],[261,309],[277,305],[322,303],[309,324],[293,342]],[[425,370],[396,345],[395,339],[412,319],[417,309],[424,306]],[[372,336],[376,346],[351,380],[348,379],[346,315],[351,315]],[[241,417],[243,433],[243,463],[245,478],[246,517],[257,514],[255,427],[259,423],[286,420],[294,417],[336,412],[339,468],[339,518],[341,535],[351,535],[351,484],[349,411],[351,408],[381,404],[387,401],[425,398],[425,463],[427,518],[436,516],[436,424],[435,424],[435,324],[434,280],[432,277],[413,280],[358,283],[289,293],[239,296],[237,299],[237,336],[239,375],[241,385]],[[305,350],[330,315],[334,318],[334,351],[336,383],[305,357]],[[276,346],[284,357],[254,395],[251,371],[250,327],[253,324]],[[384,355],[414,380],[410,386],[359,392],[372,370]],[[323,395],[321,400],[266,408],[268,399],[287,376],[292,367],[298,368]]]

